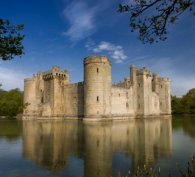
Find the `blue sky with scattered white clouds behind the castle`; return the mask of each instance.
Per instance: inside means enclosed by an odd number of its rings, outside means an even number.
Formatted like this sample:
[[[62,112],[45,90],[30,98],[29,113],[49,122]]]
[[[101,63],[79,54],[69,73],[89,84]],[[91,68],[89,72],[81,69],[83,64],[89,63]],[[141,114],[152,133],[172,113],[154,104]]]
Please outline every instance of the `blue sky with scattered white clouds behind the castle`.
[[[171,80],[171,94],[195,88],[195,16],[180,16],[168,40],[143,44],[129,27],[129,14],[117,12],[120,0],[0,0],[0,18],[24,24],[25,55],[0,60],[2,88],[23,90],[24,78],[53,65],[67,69],[72,82],[83,80],[83,58],[105,55],[112,81],[129,76],[129,66],[146,67]]]

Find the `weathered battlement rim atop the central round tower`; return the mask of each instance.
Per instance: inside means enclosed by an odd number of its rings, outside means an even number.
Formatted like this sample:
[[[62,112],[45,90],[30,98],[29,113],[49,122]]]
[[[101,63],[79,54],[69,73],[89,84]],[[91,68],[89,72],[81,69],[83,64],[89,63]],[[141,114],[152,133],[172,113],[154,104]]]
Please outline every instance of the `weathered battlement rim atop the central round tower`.
[[[106,56],[89,56],[84,58],[84,65],[89,63],[107,63],[111,65],[111,61]]]

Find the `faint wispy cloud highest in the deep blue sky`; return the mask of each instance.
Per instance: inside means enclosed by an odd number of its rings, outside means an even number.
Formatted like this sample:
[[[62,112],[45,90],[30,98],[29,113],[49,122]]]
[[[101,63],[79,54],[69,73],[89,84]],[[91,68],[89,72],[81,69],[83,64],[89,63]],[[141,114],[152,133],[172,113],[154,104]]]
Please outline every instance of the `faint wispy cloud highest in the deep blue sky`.
[[[62,35],[70,37],[73,41],[90,36],[95,30],[95,12],[95,8],[89,8],[84,2],[73,1],[63,11],[63,16],[69,21],[70,27]]]

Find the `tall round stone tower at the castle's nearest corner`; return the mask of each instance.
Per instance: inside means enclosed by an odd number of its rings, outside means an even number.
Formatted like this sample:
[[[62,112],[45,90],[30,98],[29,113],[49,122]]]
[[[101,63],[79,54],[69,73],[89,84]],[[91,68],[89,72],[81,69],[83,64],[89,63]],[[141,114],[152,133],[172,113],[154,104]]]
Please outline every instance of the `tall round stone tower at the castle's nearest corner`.
[[[111,62],[105,56],[84,59],[84,117],[111,117]]]

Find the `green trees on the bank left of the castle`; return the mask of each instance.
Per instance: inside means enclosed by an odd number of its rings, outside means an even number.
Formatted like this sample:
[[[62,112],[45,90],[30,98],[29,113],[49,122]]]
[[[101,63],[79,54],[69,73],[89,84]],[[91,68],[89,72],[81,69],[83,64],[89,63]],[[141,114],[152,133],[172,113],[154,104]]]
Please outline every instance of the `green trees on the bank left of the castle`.
[[[19,89],[0,89],[0,116],[16,116],[23,111],[23,93]]]

